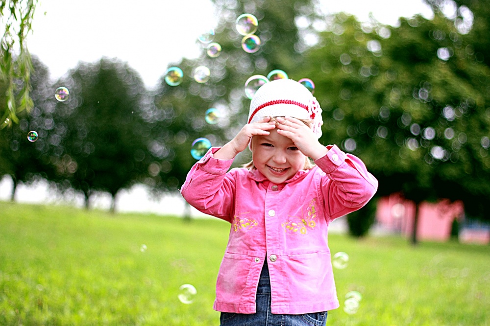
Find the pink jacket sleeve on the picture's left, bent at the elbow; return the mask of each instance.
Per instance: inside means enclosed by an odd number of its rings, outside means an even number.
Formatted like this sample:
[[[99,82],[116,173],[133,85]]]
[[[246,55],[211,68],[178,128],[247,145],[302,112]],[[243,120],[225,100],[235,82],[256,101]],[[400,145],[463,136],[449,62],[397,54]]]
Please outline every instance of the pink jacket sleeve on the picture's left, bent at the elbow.
[[[180,193],[197,210],[231,222],[235,197],[234,173],[228,172],[233,160],[219,160],[212,147],[187,174]]]

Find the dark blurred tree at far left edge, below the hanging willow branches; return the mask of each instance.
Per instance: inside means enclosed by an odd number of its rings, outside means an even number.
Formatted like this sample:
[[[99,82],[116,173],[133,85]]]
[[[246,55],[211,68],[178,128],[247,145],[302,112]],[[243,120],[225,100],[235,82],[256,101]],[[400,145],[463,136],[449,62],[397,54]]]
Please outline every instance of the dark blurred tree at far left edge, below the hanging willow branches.
[[[49,72],[46,66],[36,57],[33,57],[32,61],[30,94],[34,109],[30,114],[26,111],[20,112],[17,115],[18,124],[3,122],[6,128],[0,130],[0,176],[8,174],[12,177],[11,200],[14,200],[19,183],[29,184],[39,178],[49,179],[54,174],[48,155],[49,142],[53,141],[48,135],[54,126],[53,106],[49,105],[48,97],[53,96],[54,91],[50,92]],[[7,88],[5,83],[0,84],[2,107],[8,102],[8,96],[4,95]],[[31,138],[31,141],[28,140],[30,131],[38,135],[37,138]]]

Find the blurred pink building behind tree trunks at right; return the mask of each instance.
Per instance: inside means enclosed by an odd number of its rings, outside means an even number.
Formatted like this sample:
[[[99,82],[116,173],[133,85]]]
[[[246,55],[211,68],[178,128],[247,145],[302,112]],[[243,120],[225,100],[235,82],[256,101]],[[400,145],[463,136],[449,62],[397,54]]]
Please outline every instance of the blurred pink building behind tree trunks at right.
[[[376,221],[382,229],[400,233],[407,237],[412,235],[415,218],[415,203],[406,200],[399,193],[380,198],[377,204]],[[451,226],[454,219],[462,222],[465,210],[461,201],[441,200],[437,203],[423,202],[418,210],[417,239],[446,241],[451,237]],[[461,242],[489,243],[490,230],[462,229]]]

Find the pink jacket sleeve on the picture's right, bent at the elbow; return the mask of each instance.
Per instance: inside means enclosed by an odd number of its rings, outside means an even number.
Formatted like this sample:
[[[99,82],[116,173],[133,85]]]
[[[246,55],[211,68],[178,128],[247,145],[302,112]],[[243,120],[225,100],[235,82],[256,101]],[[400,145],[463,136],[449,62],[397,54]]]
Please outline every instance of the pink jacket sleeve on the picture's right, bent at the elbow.
[[[378,180],[358,157],[344,153],[337,145],[327,148],[327,154],[315,163],[325,172],[320,177],[320,192],[333,220],[366,205],[378,189]]]

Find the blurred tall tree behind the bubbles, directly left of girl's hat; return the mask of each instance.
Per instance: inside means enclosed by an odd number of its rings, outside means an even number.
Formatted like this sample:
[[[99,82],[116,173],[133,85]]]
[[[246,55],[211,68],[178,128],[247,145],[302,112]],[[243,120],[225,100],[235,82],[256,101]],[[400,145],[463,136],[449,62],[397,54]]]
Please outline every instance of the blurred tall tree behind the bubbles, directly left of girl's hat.
[[[154,163],[156,174],[152,178],[152,183],[160,190],[177,190],[184,183],[196,163],[190,155],[194,140],[206,137],[212,145],[221,146],[243,127],[250,104],[245,96],[245,81],[250,76],[266,76],[274,69],[289,71],[303,60],[298,49],[304,45],[294,22],[300,15],[314,16],[316,3],[310,0],[214,2],[220,21],[213,42],[221,45],[221,54],[208,56],[207,44],[203,44],[199,58],[184,58],[171,65],[183,70],[181,84],[169,86],[162,76],[154,91],[152,135],[157,147],[165,147]],[[252,13],[258,19],[255,34],[260,37],[261,46],[255,53],[243,50],[243,35],[235,27],[236,19],[243,13]],[[211,74],[207,82],[198,83],[193,79],[193,72],[199,66],[209,68]],[[218,124],[205,122],[209,108],[221,111]],[[244,153],[234,165],[246,160],[249,156]]]

